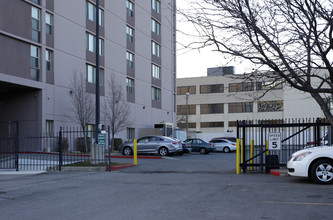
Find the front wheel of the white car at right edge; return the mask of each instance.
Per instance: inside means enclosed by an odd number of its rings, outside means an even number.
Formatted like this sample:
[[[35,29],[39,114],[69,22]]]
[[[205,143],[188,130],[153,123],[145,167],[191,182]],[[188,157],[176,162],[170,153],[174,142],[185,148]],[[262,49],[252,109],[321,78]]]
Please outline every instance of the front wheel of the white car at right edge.
[[[317,183],[333,183],[333,162],[327,159],[315,162],[311,167],[311,177]]]

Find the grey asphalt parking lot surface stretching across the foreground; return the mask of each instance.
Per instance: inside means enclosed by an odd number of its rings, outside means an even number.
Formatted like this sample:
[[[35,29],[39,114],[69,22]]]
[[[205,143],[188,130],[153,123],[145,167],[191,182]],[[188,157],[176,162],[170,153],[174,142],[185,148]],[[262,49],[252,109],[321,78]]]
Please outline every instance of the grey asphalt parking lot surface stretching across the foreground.
[[[0,175],[0,219],[332,219],[332,185],[236,175],[235,156],[139,159],[110,173]]]

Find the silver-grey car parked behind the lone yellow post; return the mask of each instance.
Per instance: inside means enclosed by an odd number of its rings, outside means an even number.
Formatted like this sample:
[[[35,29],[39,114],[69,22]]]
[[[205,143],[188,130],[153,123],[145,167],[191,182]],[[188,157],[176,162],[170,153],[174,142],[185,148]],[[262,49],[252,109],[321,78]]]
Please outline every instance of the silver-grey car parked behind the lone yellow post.
[[[133,154],[133,145],[133,142],[123,143],[119,146],[119,152],[123,155],[131,155]],[[183,152],[183,146],[181,141],[177,139],[160,135],[150,135],[137,140],[137,152],[167,156]]]

